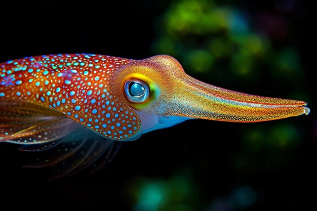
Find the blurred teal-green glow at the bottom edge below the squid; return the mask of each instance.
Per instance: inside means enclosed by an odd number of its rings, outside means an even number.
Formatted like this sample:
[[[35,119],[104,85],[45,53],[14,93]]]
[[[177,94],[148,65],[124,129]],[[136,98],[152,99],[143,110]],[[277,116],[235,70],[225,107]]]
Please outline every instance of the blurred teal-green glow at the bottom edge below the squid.
[[[135,178],[128,186],[135,211],[193,211],[201,206],[197,185],[183,171],[169,179]]]

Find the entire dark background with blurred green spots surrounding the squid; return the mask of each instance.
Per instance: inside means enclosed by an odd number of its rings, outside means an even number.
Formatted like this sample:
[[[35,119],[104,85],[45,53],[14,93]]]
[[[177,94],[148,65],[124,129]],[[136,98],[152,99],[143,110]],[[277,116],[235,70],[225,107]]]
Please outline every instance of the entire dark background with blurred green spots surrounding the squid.
[[[37,9],[35,9],[37,7]],[[55,53],[175,57],[191,76],[303,100],[308,116],[189,120],[124,143],[106,171],[53,182],[1,144],[1,202],[133,211],[303,210],[314,205],[317,118],[310,5],[288,1],[31,2],[1,19],[1,62]]]

